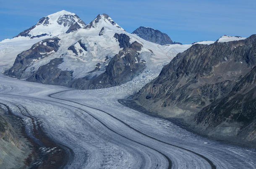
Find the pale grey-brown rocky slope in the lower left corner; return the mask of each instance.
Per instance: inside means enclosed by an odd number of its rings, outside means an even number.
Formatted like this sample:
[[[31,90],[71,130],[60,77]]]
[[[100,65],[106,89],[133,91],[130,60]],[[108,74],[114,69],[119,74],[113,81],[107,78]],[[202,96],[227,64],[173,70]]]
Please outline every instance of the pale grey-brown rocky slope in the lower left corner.
[[[22,121],[14,116],[4,114],[0,103],[0,168],[29,168],[32,144],[22,132]]]

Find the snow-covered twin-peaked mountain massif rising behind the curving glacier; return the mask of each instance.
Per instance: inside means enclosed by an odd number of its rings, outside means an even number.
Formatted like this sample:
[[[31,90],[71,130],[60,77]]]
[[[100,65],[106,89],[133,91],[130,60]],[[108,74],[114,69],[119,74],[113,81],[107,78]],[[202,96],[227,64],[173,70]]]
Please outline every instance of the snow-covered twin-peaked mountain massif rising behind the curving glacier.
[[[60,23],[59,26],[63,27],[63,31],[58,32],[59,35],[54,37],[46,35],[32,39],[28,36],[18,36],[10,39],[10,45],[29,43],[15,50],[16,53],[20,51],[18,55],[16,54],[17,57],[15,53],[8,52],[10,47],[6,47],[4,58],[8,58],[9,62],[1,68],[5,70],[5,74],[28,81],[73,88],[79,88],[85,83],[88,85],[86,88],[89,86],[96,88],[97,86],[117,86],[129,81],[136,85],[138,83],[144,85],[155,78],[162,67],[178,53],[192,46],[192,44],[159,45],[149,42],[135,34],[127,33],[107,14],[97,15],[89,24],[82,25],[84,28],[80,26],[68,31],[72,24],[78,24],[77,21],[71,22],[72,19],[70,19],[71,15],[74,17],[76,15],[68,13],[60,11],[48,15],[49,19],[44,17],[39,21],[41,27],[47,27],[49,32]],[[53,20],[57,24],[51,24]],[[53,30],[48,29],[50,27]],[[37,30],[40,30],[39,27]],[[8,40],[3,41],[2,45],[8,44]],[[4,52],[1,51],[1,53]],[[12,60],[12,63],[14,62],[12,66],[10,58],[15,57],[16,60]]]

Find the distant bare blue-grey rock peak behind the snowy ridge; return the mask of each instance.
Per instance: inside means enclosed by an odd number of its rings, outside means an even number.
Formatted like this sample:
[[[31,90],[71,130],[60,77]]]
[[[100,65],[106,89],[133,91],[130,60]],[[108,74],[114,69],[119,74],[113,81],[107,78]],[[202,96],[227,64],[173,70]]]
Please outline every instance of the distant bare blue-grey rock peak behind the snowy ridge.
[[[175,44],[174,42],[172,42],[171,38],[167,34],[149,27],[140,26],[139,28],[134,30],[132,34],[138,35],[142,39],[145,39],[160,45]]]

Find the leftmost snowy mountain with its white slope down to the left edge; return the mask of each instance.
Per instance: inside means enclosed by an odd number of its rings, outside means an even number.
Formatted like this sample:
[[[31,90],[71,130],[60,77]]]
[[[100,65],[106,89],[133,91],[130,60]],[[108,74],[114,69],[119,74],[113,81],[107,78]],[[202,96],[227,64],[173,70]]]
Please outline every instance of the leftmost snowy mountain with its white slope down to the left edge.
[[[10,68],[16,56],[31,48],[34,43],[83,27],[85,27],[84,21],[76,14],[65,10],[41,18],[36,25],[16,37],[0,42],[0,71]]]

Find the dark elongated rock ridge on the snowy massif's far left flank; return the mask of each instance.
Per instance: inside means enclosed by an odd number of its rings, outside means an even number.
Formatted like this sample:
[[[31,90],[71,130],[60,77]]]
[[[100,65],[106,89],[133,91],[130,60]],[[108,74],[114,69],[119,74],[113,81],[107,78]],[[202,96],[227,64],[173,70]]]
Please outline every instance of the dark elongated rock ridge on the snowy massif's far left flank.
[[[5,71],[5,74],[11,77],[22,78],[22,75],[29,65],[40,58],[47,57],[50,53],[58,50],[59,38],[50,38],[35,43],[29,50],[17,55],[13,66]]]

